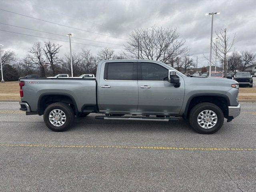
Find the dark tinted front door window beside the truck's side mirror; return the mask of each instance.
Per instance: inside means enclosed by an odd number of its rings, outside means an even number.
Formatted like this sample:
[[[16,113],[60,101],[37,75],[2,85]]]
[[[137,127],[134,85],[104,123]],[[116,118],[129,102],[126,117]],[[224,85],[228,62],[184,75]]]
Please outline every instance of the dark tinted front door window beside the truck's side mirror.
[[[141,63],[142,80],[167,81],[168,70],[154,63]]]

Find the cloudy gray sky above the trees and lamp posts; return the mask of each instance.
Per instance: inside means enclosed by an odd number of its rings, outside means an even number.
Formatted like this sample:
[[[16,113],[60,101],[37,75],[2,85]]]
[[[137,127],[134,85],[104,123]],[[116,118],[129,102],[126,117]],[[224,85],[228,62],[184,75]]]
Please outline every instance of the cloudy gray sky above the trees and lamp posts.
[[[74,33],[75,37],[113,44],[124,44],[130,32],[137,28],[149,28],[152,25],[177,28],[180,38],[186,40],[186,46],[198,66],[207,65],[204,56],[210,52],[211,18],[208,12],[221,12],[214,17],[214,30],[228,28],[231,36],[236,33],[237,51],[256,51],[256,1],[255,0],[1,0],[0,22],[24,28],[30,28],[55,34]],[[33,18],[88,30],[109,36],[93,34],[72,29]],[[66,36],[17,28],[0,24],[0,30],[46,37],[38,38],[0,31],[0,44],[5,49],[12,49],[23,57],[36,41],[44,42],[47,38],[62,44],[61,54],[69,52]],[[124,38],[124,39],[120,39]],[[73,39],[74,42],[111,48],[122,48],[120,45],[90,42]],[[72,44],[72,50],[90,49],[96,54],[101,48],[96,46]],[[116,53],[120,49],[115,50]]]

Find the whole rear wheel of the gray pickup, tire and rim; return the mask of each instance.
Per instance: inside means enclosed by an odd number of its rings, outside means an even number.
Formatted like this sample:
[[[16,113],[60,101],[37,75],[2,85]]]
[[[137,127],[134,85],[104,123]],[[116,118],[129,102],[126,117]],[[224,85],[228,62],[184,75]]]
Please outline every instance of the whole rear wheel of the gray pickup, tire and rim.
[[[66,131],[74,123],[73,109],[66,103],[56,102],[44,110],[44,123],[53,131]]]

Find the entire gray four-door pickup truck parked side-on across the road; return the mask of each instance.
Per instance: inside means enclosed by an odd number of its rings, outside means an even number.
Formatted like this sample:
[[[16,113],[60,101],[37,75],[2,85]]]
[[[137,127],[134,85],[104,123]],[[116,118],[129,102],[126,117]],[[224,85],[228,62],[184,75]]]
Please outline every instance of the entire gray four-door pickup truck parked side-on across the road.
[[[218,131],[240,114],[238,82],[191,78],[152,60],[105,60],[96,79],[22,79],[20,110],[44,115],[53,131],[67,130],[75,116],[99,113],[104,120],[188,119],[202,134]]]

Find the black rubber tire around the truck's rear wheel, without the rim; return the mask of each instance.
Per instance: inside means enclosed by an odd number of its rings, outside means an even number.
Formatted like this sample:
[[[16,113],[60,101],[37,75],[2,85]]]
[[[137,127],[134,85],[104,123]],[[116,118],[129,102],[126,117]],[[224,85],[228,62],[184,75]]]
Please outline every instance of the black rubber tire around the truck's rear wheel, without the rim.
[[[54,126],[49,120],[49,114],[54,109],[62,110],[66,116],[66,121],[61,126]],[[74,123],[74,120],[75,120],[74,111],[71,108],[71,106],[69,106],[67,103],[56,102],[56,103],[50,104],[44,110],[44,123],[52,131],[56,131],[56,132],[66,131]]]

